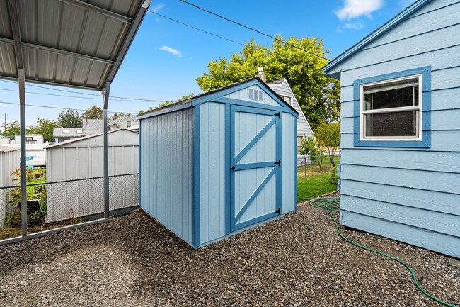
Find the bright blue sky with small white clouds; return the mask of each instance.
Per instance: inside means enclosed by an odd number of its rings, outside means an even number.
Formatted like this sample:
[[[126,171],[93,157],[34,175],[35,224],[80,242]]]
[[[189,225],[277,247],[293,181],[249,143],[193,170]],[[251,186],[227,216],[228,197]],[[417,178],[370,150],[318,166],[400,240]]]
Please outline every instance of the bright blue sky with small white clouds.
[[[402,11],[413,0],[191,0],[191,2],[270,35],[280,34],[284,38],[290,36],[323,38],[326,49],[330,50],[330,57],[335,57]],[[272,43],[270,38],[219,19],[179,0],[154,0],[150,9],[240,43],[246,43],[251,38],[261,45]],[[207,72],[207,63],[219,57],[229,57],[231,53],[238,50],[241,50],[241,45],[201,33],[154,13],[147,13],[115,77],[110,94],[157,100],[176,100],[190,92],[198,94],[201,90],[195,78]],[[58,86],[53,88],[69,90]],[[16,103],[18,94],[5,89],[17,90],[17,84],[0,80],[0,101]],[[33,86],[26,86],[26,91],[69,94]],[[94,91],[83,92],[98,94]],[[98,96],[87,97],[92,99],[26,94],[26,104],[77,109],[88,108],[93,104],[101,105]],[[137,113],[140,109],[157,104],[110,101],[109,111]],[[18,106],[0,102],[1,123],[4,121],[4,113],[7,114],[8,122],[18,121],[18,109]],[[50,108],[29,106],[26,124],[35,123],[37,118],[56,119],[59,112]]]

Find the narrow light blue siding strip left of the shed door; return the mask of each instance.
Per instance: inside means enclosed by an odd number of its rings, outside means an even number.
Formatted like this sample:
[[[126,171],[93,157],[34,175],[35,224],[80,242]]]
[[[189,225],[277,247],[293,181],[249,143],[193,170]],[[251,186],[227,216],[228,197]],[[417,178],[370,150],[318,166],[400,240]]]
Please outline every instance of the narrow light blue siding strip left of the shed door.
[[[225,143],[225,104],[200,105],[200,244],[226,235]]]

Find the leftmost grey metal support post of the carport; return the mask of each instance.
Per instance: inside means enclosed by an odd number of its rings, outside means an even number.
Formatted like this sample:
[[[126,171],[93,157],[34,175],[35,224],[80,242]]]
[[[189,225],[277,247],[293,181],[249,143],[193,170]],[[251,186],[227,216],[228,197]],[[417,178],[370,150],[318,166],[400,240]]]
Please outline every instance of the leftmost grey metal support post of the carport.
[[[27,235],[27,164],[25,163],[25,72],[18,69],[19,122],[21,134],[21,228],[23,237]]]

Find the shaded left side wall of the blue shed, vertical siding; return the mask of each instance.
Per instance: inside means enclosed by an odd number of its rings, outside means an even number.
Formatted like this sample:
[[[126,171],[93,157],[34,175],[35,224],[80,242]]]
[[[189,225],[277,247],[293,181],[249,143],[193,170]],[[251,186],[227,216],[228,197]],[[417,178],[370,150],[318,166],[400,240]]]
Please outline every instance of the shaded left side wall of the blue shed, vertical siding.
[[[192,244],[193,109],[140,122],[141,207]]]

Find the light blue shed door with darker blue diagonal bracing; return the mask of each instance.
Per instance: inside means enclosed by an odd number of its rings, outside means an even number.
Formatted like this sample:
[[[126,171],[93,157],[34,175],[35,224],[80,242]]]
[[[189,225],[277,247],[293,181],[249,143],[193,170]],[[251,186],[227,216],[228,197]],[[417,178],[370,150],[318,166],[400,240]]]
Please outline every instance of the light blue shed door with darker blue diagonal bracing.
[[[280,113],[231,106],[230,230],[280,214]]]

